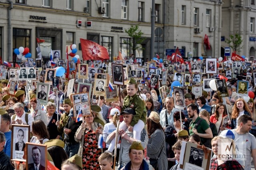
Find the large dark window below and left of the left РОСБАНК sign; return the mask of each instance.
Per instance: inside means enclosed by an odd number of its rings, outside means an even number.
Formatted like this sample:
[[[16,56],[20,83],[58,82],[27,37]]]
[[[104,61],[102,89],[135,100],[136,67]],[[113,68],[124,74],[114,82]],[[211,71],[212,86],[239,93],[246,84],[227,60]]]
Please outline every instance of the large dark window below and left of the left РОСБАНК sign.
[[[30,29],[12,29],[12,48],[28,47],[30,49]]]

